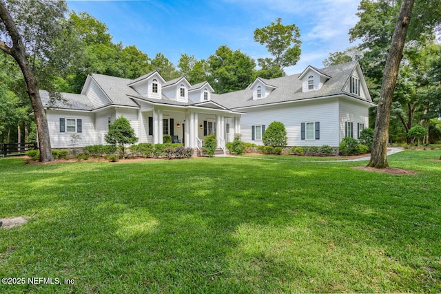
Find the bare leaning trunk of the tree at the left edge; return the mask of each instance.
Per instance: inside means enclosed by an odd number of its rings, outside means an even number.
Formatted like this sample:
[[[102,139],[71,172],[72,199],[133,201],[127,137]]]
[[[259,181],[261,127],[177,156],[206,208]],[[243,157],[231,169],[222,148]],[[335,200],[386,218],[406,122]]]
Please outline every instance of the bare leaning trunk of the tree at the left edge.
[[[37,134],[40,145],[40,161],[52,161],[52,149],[50,147],[48,120],[46,120],[43,103],[41,103],[37,78],[30,67],[29,61],[25,56],[25,47],[21,41],[21,36],[10,13],[0,0],[0,19],[6,26],[8,34],[12,40],[12,47],[8,47],[6,43],[0,41],[0,49],[14,57],[17,61],[26,82],[26,92],[28,92],[32,109],[34,110],[35,120],[37,122]]]

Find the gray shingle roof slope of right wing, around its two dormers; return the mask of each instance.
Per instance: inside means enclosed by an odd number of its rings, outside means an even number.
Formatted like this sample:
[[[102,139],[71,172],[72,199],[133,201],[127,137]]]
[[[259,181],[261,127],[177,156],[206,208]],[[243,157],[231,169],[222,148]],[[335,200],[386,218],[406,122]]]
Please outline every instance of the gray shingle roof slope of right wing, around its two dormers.
[[[302,92],[302,81],[298,80],[300,74],[294,74],[292,76],[272,78],[271,80],[262,78],[265,83],[276,87],[275,90],[263,99],[253,100],[252,90],[245,89],[238,92],[212,95],[212,100],[230,109],[236,109],[241,107],[252,107],[257,105],[284,103],[288,101],[300,101],[308,98],[347,94],[342,90],[357,64],[357,61],[351,61],[349,63],[342,63],[340,65],[320,69],[320,72],[323,74],[331,76],[320,90]]]

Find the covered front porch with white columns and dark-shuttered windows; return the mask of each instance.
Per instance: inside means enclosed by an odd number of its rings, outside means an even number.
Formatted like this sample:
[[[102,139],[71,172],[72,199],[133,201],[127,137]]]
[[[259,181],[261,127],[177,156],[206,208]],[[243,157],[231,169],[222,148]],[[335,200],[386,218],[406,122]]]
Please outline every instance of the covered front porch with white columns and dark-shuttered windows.
[[[225,144],[240,133],[241,114],[229,109],[154,105],[141,109],[140,116],[140,143],[163,143],[163,136],[170,135],[185,147],[201,149],[205,136],[214,134],[225,153]]]

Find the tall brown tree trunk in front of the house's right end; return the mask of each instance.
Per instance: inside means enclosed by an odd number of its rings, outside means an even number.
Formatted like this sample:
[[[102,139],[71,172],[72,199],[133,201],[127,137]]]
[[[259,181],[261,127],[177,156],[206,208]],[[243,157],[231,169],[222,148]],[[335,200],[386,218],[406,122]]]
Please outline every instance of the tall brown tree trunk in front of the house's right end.
[[[400,14],[398,14],[397,24],[392,36],[391,48],[389,54],[387,54],[386,66],[384,67],[371,160],[367,165],[368,167],[378,169],[389,167],[387,163],[387,139],[389,138],[392,98],[402,59],[402,50],[406,41],[407,28],[409,28],[411,20],[412,8],[413,0],[402,1]]]

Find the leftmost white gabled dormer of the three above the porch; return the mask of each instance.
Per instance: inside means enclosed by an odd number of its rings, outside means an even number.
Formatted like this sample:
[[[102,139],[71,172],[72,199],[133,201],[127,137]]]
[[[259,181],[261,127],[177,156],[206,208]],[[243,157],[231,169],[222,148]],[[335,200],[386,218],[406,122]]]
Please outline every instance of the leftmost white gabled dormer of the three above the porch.
[[[128,84],[141,96],[146,98],[161,99],[162,88],[165,84],[164,78],[158,72],[154,71],[145,76],[136,78],[132,83]]]

